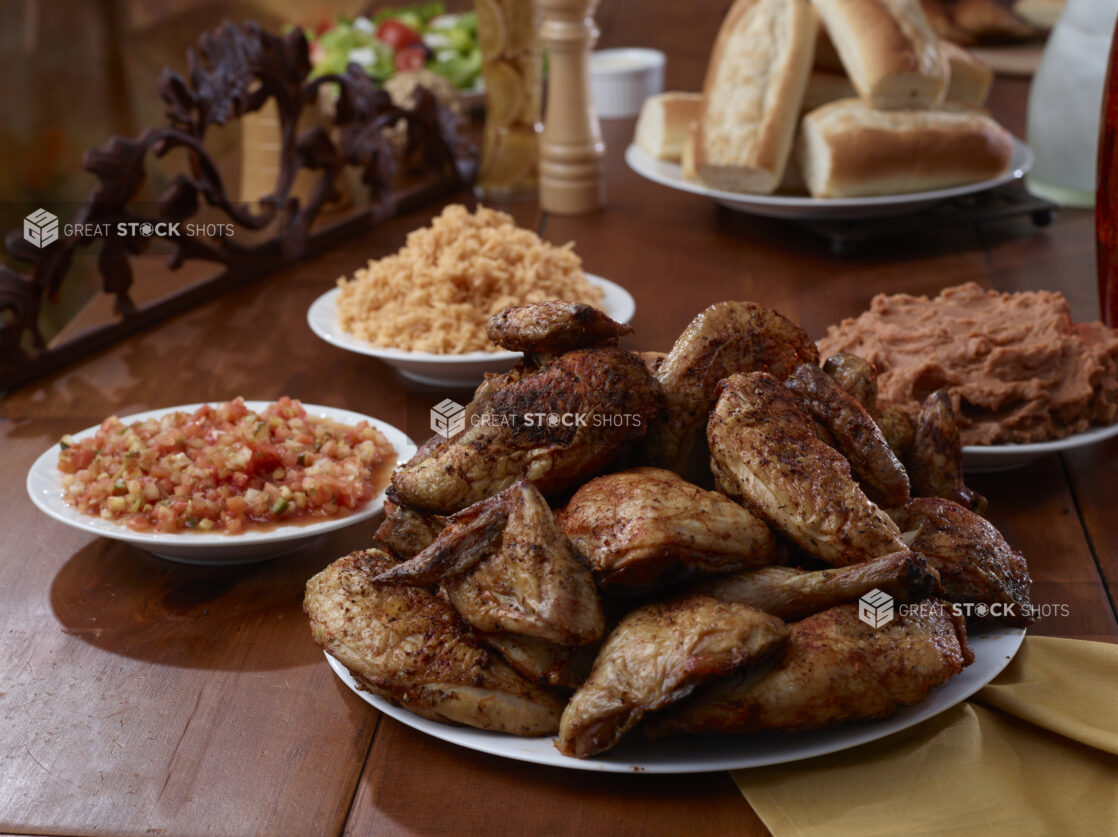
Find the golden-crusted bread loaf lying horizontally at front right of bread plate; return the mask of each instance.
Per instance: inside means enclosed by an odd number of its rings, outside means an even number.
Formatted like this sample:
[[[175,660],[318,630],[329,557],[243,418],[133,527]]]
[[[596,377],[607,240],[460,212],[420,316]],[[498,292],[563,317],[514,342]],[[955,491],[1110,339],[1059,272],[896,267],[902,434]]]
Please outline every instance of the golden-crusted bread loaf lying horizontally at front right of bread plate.
[[[847,98],[804,116],[797,154],[812,196],[855,198],[997,177],[1010,167],[1013,137],[969,108],[875,111]]]

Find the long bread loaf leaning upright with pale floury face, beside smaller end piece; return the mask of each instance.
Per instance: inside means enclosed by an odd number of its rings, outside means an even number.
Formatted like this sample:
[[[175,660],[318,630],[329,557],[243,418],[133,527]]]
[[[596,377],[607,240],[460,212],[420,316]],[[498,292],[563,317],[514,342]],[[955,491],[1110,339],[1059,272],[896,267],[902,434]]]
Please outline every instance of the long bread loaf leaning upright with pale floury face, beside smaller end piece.
[[[808,0],[736,0],[707,67],[695,168],[716,189],[767,194],[788,162],[817,30]]]

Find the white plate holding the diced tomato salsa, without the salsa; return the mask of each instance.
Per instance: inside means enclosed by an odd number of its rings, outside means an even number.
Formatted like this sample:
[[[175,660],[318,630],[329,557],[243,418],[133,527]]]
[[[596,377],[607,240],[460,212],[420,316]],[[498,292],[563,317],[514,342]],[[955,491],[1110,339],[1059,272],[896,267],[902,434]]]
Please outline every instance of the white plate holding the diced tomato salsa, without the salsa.
[[[245,402],[250,410],[263,410],[269,403],[272,402]],[[159,418],[168,412],[193,412],[201,406],[202,403],[165,407],[159,410],[138,412],[134,416],[123,416],[121,417],[121,421],[130,425],[149,418]],[[339,410],[333,407],[320,407],[318,405],[304,403],[303,409],[306,410],[309,416],[332,419],[347,425],[368,421],[372,427],[380,430],[389,444],[396,448],[397,463],[407,462],[416,453],[415,443],[406,434],[379,419],[362,416],[360,412]],[[82,432],[72,434],[72,436],[75,439],[84,439],[94,436],[100,427],[100,424],[87,427]],[[124,541],[125,543],[131,543],[134,546],[146,550],[154,555],[180,563],[239,564],[265,561],[296,550],[315,538],[324,535],[326,532],[352,526],[354,523],[368,520],[385,507],[385,493],[380,492],[380,494],[362,507],[344,517],[318,521],[303,525],[276,526],[266,531],[248,531],[235,535],[219,532],[183,532],[181,534],[133,532],[123,523],[114,523],[84,514],[63,500],[63,474],[58,470],[57,466],[58,445],[55,444],[35,460],[35,464],[27,474],[27,493],[30,495],[31,502],[40,511],[74,529],[102,535],[103,538],[111,538],[115,541]]]

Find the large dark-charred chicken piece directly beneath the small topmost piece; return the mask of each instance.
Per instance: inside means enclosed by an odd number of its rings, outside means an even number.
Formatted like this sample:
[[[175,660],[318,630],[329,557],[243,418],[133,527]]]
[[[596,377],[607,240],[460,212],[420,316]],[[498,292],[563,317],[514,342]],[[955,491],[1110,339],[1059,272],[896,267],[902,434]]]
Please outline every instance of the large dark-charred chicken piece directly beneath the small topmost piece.
[[[493,392],[473,426],[396,472],[392,498],[451,513],[519,479],[559,492],[643,436],[661,409],[660,387],[637,355],[568,352]]]

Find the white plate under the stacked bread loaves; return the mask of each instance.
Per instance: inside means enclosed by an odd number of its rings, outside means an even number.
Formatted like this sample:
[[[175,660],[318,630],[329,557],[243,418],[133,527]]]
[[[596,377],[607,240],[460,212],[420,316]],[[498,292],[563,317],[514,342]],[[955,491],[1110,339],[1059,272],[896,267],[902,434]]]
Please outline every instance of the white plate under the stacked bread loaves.
[[[982,192],[987,189],[1004,186],[1014,180],[1021,180],[1033,167],[1033,152],[1023,142],[1014,137],[1013,159],[1010,170],[1004,174],[980,180],[975,183],[935,189],[927,192],[909,192],[907,194],[885,194],[873,198],[809,198],[789,194],[745,194],[711,189],[698,180],[683,177],[679,163],[657,160],[643,149],[629,145],[625,150],[625,162],[642,178],[678,189],[692,194],[702,194],[716,203],[739,212],[764,215],[770,218],[790,218],[796,220],[854,220],[858,218],[878,218],[887,215],[915,212],[923,207],[939,201],[957,198],[963,194]]]

